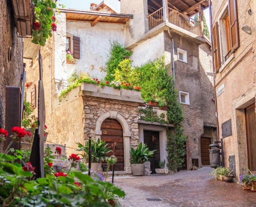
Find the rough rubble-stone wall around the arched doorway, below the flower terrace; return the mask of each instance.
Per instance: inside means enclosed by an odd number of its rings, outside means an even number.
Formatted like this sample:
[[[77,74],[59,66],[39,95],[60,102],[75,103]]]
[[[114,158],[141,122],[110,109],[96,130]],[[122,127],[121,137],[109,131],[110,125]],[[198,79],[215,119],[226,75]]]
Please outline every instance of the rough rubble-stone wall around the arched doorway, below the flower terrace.
[[[98,118],[109,111],[116,111],[125,118],[128,123],[131,138],[130,146],[136,147],[139,142],[138,130],[138,106],[139,103],[83,96],[84,103],[84,138],[88,139],[88,134],[95,137],[95,127]],[[123,129],[124,130],[124,129]]]

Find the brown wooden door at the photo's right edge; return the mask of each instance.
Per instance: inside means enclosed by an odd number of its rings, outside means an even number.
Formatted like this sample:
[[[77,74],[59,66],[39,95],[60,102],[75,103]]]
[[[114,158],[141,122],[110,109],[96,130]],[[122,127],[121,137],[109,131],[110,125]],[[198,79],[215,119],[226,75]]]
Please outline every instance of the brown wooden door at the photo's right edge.
[[[245,109],[248,168],[256,171],[256,119],[255,104]]]

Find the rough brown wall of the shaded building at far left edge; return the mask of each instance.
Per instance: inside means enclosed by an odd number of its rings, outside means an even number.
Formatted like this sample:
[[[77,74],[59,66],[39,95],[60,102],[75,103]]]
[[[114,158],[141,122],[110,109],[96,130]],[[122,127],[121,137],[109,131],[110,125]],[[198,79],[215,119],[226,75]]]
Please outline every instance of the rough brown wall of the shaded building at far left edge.
[[[18,38],[11,1],[0,2],[0,128],[5,126],[5,87],[19,86],[23,71],[23,38]],[[12,48],[11,62],[8,49]]]

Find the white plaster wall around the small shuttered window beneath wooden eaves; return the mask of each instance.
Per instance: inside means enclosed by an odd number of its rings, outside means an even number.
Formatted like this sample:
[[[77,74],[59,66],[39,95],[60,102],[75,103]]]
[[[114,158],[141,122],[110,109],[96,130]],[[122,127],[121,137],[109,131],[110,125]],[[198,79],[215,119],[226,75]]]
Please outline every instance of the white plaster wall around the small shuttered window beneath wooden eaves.
[[[57,19],[59,29],[55,33],[55,81],[63,81],[62,84],[65,86],[66,80],[74,71],[86,72],[91,77],[103,79],[106,75],[104,68],[109,58],[111,43],[117,41],[124,44],[124,25],[97,23],[91,27],[89,22],[66,21],[65,13],[58,15]],[[67,33],[69,36],[80,38],[80,59],[76,64],[66,63]]]

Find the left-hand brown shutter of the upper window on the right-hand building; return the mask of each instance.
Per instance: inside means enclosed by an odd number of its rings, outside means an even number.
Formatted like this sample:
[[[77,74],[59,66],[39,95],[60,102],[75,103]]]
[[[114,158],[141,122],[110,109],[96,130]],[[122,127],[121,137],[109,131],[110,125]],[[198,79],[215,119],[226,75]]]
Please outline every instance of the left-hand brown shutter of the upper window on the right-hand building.
[[[212,28],[212,35],[213,35],[214,67],[215,67],[215,72],[217,73],[221,67],[218,22],[215,22]]]

